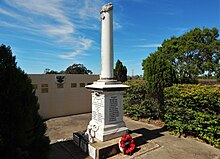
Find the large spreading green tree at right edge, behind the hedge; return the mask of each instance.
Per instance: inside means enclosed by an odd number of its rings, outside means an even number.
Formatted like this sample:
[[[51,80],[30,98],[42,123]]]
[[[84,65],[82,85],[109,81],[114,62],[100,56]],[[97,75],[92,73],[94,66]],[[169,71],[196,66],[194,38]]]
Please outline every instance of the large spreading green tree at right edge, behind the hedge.
[[[196,83],[199,75],[217,77],[220,40],[216,28],[195,28],[180,37],[164,40],[157,52],[174,66],[179,83]]]

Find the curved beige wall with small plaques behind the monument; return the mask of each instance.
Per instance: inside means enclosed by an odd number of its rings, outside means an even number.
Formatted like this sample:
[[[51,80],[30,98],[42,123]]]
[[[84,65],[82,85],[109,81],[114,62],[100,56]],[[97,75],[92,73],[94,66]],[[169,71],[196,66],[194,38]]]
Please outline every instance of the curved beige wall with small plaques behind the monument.
[[[59,83],[56,76],[64,76]],[[86,85],[99,79],[98,75],[80,74],[30,74],[44,118],[91,112],[91,92]]]

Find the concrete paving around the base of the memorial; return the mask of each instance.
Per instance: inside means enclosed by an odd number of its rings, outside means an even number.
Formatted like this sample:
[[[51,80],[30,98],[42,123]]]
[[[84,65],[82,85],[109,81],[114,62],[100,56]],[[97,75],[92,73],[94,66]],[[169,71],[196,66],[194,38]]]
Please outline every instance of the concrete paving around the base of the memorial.
[[[47,135],[51,139],[50,159],[91,159],[72,142],[73,132],[86,129],[91,113],[49,119]],[[142,134],[132,156],[117,154],[110,159],[220,159],[220,150],[193,138],[169,135],[165,129],[124,117],[131,133]]]

